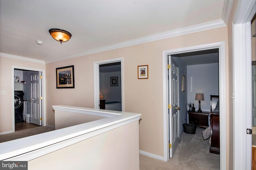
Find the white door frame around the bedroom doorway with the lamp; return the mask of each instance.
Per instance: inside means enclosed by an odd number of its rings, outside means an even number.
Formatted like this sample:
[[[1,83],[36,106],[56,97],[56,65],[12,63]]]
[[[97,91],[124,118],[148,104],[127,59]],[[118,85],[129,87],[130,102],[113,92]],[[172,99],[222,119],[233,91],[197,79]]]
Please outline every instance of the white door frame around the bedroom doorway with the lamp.
[[[225,41],[196,45],[191,47],[184,47],[179,49],[171,49],[162,52],[163,63],[163,117],[164,117],[164,161],[168,161],[168,107],[167,107],[167,63],[166,56],[177,53],[202,51],[205,49],[219,49],[219,96],[220,113],[226,113],[226,55],[225,55]],[[226,168],[226,114],[220,114],[220,168]]]

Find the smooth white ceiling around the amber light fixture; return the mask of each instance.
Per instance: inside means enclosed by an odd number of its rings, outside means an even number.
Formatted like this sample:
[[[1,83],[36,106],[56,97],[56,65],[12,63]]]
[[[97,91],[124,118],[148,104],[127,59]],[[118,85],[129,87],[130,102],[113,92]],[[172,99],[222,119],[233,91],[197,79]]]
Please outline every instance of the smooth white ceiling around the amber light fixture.
[[[222,21],[225,0],[0,0],[0,54],[46,63]],[[223,21],[222,21],[223,22]],[[225,22],[225,21],[224,21]],[[69,31],[55,41],[51,28]],[[36,40],[43,41],[37,45]]]

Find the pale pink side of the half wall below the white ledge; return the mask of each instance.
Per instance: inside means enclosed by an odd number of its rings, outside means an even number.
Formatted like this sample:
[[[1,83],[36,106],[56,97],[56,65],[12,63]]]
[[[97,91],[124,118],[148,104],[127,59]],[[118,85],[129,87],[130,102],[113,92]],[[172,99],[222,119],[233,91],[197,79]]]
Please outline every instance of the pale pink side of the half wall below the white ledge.
[[[139,170],[138,121],[28,161],[28,170]]]

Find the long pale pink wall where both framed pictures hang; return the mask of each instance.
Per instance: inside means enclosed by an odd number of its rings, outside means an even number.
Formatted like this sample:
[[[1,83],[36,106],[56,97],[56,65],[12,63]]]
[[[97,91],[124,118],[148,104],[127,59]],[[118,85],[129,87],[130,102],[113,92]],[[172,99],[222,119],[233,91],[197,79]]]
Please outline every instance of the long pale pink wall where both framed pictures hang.
[[[141,113],[140,150],[164,156],[162,51],[208,43],[226,42],[226,81],[228,82],[228,29],[221,27],[102,53],[46,64],[47,118],[54,125],[53,105],[94,107],[95,61],[124,58],[124,111]],[[74,65],[74,89],[56,89],[56,68]],[[149,65],[149,78],[137,79],[137,66]],[[231,82],[232,83],[232,82]],[[228,83],[226,93],[229,92]],[[227,105],[230,98],[227,98]],[[226,112],[229,112],[227,107]],[[228,118],[227,118],[228,119]],[[229,121],[229,120],[227,120]],[[229,127],[227,126],[227,132]],[[229,139],[227,139],[227,143]],[[227,149],[227,152],[229,150]]]

